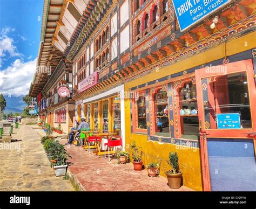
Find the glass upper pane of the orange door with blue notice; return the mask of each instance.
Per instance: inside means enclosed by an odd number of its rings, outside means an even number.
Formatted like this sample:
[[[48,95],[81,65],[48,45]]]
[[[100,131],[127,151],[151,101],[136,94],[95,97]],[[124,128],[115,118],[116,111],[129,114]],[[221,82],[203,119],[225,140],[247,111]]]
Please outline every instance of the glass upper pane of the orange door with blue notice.
[[[202,80],[205,126],[208,129],[252,128],[246,72]]]

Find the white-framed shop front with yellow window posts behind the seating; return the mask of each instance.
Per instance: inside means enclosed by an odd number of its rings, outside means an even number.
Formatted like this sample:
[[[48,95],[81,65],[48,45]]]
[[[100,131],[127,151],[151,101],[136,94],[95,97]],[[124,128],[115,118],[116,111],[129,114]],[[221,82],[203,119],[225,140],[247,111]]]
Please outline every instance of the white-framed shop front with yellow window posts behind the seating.
[[[91,130],[117,133],[125,144],[124,85],[79,101],[76,109],[78,121],[84,117]]]

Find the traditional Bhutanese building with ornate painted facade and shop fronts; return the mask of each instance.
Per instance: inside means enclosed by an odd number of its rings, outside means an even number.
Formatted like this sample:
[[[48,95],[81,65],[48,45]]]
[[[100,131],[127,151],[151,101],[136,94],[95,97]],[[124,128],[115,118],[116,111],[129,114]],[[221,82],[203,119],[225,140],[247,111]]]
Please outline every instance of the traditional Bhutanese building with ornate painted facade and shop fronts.
[[[78,120],[118,132],[127,150],[136,141],[162,176],[178,152],[191,189],[255,190],[255,0],[65,8],[52,44],[72,65]]]

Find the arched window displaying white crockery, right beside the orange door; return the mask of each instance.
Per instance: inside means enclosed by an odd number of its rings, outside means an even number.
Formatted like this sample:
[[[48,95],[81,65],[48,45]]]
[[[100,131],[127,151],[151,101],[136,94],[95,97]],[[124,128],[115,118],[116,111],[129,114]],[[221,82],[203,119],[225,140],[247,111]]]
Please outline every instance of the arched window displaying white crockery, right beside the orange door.
[[[179,90],[181,137],[199,140],[199,120],[196,85],[186,82]]]

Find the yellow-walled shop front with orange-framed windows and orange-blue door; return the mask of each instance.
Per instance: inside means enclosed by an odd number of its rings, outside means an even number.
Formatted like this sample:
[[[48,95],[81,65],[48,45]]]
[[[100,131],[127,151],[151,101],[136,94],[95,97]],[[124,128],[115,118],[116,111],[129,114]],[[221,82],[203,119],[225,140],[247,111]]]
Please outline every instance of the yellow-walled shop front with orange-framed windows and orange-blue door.
[[[163,176],[171,169],[169,152],[178,152],[183,184],[194,190],[256,188],[255,58],[235,45],[226,45],[237,52],[228,57],[208,60],[213,48],[125,84],[132,95],[125,103],[126,143],[143,148],[145,165],[161,159]]]

